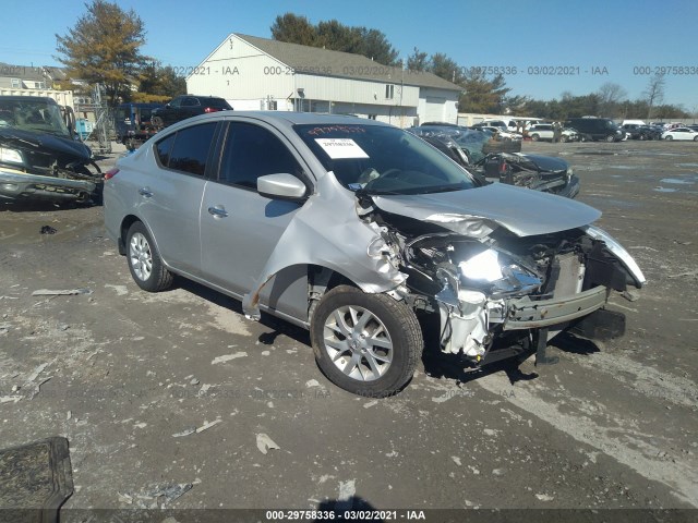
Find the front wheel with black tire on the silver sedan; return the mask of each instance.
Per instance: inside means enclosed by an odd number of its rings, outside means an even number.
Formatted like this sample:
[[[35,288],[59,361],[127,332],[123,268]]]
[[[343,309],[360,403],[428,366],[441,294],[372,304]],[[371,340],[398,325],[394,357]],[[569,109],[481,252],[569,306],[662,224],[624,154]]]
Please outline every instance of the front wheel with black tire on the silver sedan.
[[[356,329],[362,321],[365,325]],[[371,398],[399,392],[414,374],[424,345],[410,307],[386,294],[348,285],[323,296],[311,318],[310,335],[323,374],[337,387]]]

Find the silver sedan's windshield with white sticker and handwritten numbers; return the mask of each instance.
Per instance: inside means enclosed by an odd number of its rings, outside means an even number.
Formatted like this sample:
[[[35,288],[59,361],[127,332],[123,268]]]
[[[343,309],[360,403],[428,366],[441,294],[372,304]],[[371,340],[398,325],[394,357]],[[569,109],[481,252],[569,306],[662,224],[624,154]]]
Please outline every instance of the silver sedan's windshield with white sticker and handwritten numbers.
[[[350,191],[425,194],[476,186],[470,174],[402,130],[383,125],[296,125],[327,171]]]

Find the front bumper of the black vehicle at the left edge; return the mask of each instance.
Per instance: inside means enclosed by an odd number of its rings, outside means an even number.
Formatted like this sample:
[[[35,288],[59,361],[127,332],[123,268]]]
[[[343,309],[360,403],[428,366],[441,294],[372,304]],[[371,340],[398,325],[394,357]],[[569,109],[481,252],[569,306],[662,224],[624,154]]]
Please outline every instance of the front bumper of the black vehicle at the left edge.
[[[2,199],[85,200],[96,188],[97,184],[88,180],[43,177],[0,168],[0,198]]]

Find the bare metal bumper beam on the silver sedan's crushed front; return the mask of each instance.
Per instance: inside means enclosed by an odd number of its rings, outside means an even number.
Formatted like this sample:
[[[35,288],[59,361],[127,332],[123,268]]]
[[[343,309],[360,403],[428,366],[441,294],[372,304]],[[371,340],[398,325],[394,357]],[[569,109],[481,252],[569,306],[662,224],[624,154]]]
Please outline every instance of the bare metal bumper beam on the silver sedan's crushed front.
[[[529,296],[509,303],[504,330],[537,329],[587,316],[606,304],[609,290],[595,287],[578,294],[532,301]]]

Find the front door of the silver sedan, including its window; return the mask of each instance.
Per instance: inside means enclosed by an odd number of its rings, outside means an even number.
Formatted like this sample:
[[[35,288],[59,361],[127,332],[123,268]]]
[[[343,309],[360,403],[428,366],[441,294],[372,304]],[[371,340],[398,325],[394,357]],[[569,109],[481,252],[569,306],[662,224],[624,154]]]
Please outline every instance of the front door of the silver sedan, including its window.
[[[298,153],[276,130],[231,121],[218,180],[206,186],[201,210],[204,278],[234,294],[249,292],[303,202],[256,192],[257,178],[290,173],[305,180]],[[308,183],[306,183],[308,184]]]

